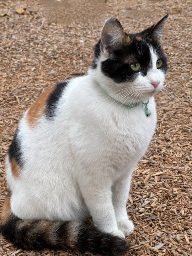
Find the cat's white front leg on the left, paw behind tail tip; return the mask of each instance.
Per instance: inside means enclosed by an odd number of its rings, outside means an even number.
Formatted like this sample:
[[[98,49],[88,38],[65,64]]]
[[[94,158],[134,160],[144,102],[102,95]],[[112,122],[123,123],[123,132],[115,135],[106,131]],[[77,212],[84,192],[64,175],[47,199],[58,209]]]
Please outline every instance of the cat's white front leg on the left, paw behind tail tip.
[[[116,215],[112,203],[111,185],[94,178],[81,180],[79,187],[88,207],[94,225],[101,231],[125,238],[118,229]]]

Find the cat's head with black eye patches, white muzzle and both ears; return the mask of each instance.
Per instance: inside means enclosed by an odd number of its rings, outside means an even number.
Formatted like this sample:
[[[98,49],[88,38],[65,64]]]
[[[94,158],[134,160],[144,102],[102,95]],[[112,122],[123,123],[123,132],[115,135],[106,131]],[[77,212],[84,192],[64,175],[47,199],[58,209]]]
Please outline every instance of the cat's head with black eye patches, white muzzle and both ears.
[[[136,34],[126,33],[116,18],[105,22],[90,72],[109,95],[136,102],[162,89],[167,63],[161,35],[167,18]]]

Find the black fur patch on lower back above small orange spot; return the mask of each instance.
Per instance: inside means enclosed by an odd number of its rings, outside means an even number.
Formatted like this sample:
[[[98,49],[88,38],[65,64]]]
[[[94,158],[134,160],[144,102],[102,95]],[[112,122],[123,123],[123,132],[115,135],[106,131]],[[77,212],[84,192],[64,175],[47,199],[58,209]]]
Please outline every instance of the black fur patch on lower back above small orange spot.
[[[18,138],[18,128],[15,132],[14,138],[9,146],[9,158],[10,162],[15,159],[17,165],[22,168],[23,166],[23,159],[22,159],[22,152],[21,152],[21,145],[20,140]]]

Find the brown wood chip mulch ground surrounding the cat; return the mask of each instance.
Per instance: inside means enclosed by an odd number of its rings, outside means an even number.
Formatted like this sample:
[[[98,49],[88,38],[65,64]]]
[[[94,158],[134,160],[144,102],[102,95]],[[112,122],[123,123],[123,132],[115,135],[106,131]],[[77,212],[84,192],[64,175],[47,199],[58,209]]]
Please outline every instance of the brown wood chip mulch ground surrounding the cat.
[[[86,73],[107,17],[136,32],[169,13],[167,92],[156,96],[157,129],[133,175],[127,211],[135,230],[127,255],[192,255],[191,6],[190,0],[0,1],[0,204],[5,155],[27,107],[55,82]],[[27,252],[1,236],[0,255],[80,254]]]

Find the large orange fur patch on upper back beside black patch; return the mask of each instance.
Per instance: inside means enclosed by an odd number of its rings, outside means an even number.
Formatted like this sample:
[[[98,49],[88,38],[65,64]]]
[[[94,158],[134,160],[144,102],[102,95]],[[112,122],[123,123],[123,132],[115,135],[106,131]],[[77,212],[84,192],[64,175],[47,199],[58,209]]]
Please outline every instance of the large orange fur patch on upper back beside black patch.
[[[28,110],[27,121],[31,127],[35,126],[39,117],[41,117],[41,115],[43,114],[49,95],[53,92],[54,89],[55,86],[49,88],[46,92],[44,92]]]

